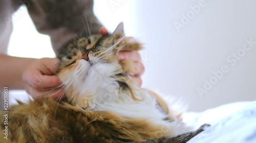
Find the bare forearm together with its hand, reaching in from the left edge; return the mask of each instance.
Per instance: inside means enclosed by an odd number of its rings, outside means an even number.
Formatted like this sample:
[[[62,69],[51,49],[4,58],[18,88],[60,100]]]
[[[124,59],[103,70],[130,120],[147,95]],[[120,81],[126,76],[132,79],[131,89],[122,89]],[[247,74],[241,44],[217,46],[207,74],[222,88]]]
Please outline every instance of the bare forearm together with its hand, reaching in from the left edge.
[[[61,82],[55,75],[56,58],[19,58],[0,54],[0,87],[9,90],[25,90],[34,98],[52,95],[57,99],[63,91],[50,89]]]

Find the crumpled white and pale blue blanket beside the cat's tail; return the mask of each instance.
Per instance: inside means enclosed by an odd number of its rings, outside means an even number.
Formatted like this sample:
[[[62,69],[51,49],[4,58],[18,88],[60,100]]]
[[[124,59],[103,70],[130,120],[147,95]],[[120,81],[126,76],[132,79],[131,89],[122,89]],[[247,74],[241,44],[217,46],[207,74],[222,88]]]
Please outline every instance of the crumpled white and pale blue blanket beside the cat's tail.
[[[193,119],[191,117],[191,113],[185,116],[186,120]],[[212,120],[211,117],[215,119]],[[194,122],[196,126],[209,123],[211,127],[190,139],[188,143],[256,143],[256,101],[211,109],[196,115]]]

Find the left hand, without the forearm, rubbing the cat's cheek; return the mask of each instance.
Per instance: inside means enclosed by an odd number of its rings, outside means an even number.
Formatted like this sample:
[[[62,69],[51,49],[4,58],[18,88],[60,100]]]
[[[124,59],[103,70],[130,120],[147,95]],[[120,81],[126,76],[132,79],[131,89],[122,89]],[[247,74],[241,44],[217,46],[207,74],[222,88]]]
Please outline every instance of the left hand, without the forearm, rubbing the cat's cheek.
[[[55,75],[58,63],[57,58],[37,59],[23,73],[25,90],[34,99],[51,96],[57,100],[65,97],[64,90],[59,87],[61,81]]]

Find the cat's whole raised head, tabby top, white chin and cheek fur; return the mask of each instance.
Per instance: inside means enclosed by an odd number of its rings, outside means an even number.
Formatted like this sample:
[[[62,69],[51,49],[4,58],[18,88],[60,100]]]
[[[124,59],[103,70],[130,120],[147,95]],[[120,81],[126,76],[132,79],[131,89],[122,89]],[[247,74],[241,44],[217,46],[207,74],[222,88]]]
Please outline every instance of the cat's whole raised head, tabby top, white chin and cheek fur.
[[[68,99],[73,100],[74,104],[81,97],[90,99],[100,91],[129,88],[123,67],[129,69],[127,66],[131,64],[125,66],[119,63],[118,51],[139,50],[141,45],[136,41],[125,41],[123,36],[123,23],[120,23],[113,34],[80,38],[60,49],[57,75]]]

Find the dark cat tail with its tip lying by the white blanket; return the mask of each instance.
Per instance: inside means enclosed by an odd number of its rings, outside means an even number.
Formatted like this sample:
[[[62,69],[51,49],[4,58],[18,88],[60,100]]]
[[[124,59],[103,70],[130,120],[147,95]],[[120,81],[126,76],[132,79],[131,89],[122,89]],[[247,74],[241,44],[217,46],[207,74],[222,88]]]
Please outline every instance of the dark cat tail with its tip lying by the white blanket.
[[[173,137],[164,136],[156,139],[148,139],[145,141],[134,141],[133,143],[185,143],[208,127],[210,127],[209,124],[204,124],[196,131],[189,131]]]

